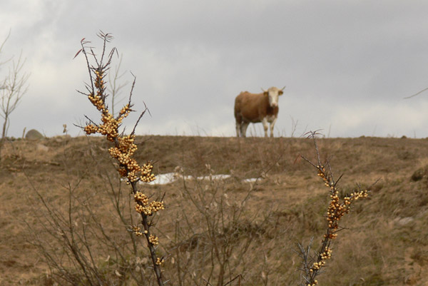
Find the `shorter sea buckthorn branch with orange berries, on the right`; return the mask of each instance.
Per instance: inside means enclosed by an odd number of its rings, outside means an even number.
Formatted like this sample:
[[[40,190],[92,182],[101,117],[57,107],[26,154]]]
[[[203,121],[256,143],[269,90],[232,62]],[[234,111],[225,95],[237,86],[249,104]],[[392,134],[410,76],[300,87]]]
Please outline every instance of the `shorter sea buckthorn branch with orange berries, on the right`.
[[[317,175],[322,179],[324,185],[329,189],[330,193],[330,203],[327,208],[327,228],[325,234],[321,241],[320,250],[316,252],[315,257],[310,256],[310,247],[312,245],[312,240],[310,245],[305,249],[302,245],[297,244],[300,250],[300,257],[302,257],[303,267],[302,275],[305,282],[302,285],[305,286],[315,286],[318,284],[316,280],[317,275],[322,271],[322,267],[325,267],[327,260],[332,257],[332,241],[337,238],[337,233],[344,228],[340,227],[340,220],[347,214],[350,213],[352,203],[359,198],[367,198],[369,190],[361,189],[358,185],[358,189],[354,190],[350,195],[345,195],[343,198],[340,198],[340,189],[338,188],[337,183],[342,178],[342,175],[335,180],[330,162],[328,160],[325,163],[322,163],[320,159],[320,151],[318,150],[317,141],[315,136],[317,132],[310,132],[309,138],[312,138],[315,145],[315,151],[317,153],[317,163],[312,163],[310,160],[301,156],[304,160],[310,163],[317,169]]]

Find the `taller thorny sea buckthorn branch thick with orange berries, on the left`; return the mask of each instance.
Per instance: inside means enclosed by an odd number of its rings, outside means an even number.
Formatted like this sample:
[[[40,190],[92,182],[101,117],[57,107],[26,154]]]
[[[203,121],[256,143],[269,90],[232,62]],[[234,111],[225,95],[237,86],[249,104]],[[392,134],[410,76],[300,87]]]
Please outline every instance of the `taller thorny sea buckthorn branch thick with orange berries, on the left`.
[[[116,51],[116,48],[111,50],[106,58],[106,63],[103,63],[104,57],[106,55],[106,44],[110,42],[113,37],[111,34],[104,34],[103,32],[100,32],[98,37],[103,40],[103,51],[99,61],[96,57],[96,54],[93,52],[93,48],[86,47],[86,44],[89,42],[85,41],[84,38],[81,40],[82,48],[78,51],[78,53],[76,53],[76,56],[81,52],[84,54],[88,66],[89,77],[91,78],[91,83],[86,84],[87,93],[83,93],[81,91],[78,92],[87,96],[93,106],[95,106],[97,110],[100,111],[101,123],[95,123],[90,118],[86,117],[88,119],[86,126],[80,127],[83,128],[87,135],[99,133],[103,136],[106,136],[107,140],[114,144],[113,147],[108,149],[108,153],[111,155],[111,158],[116,160],[116,170],[118,171],[119,175],[121,175],[122,178],[125,178],[126,183],[131,186],[133,198],[136,202],[135,210],[141,218],[140,223],[142,228],[139,225],[134,225],[131,231],[138,237],[143,235],[146,237],[148,249],[151,253],[156,280],[158,285],[161,286],[163,285],[161,265],[165,260],[163,257],[158,257],[156,255],[156,248],[159,244],[159,239],[156,235],[151,233],[151,226],[153,223],[151,220],[149,220],[149,218],[159,210],[163,210],[165,205],[163,200],[153,200],[149,202],[148,196],[138,190],[137,183],[139,181],[143,183],[150,183],[156,178],[152,173],[153,165],[150,162],[139,165],[136,159],[133,158],[133,155],[137,150],[137,145],[135,143],[136,126],[146,111],[148,111],[148,109],[146,107],[145,110],[141,113],[131,134],[125,135],[124,131],[119,133],[119,128],[121,127],[123,119],[133,111],[133,109],[131,109],[133,106],[131,103],[131,96],[136,83],[136,76],[134,76],[128,103],[123,106],[123,108],[121,108],[121,111],[119,111],[118,116],[115,118],[113,114],[110,113],[108,106],[106,105],[107,95],[106,82],[104,81],[104,78],[108,73],[111,59]],[[95,66],[91,66],[88,55],[93,56],[93,59],[96,62]]]

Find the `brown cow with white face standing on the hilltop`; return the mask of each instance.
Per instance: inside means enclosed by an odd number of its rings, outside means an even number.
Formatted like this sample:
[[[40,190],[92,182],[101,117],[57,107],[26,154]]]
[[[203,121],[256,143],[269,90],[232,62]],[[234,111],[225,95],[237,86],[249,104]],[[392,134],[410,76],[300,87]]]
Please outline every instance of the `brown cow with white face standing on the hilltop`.
[[[278,96],[282,95],[285,86],[271,87],[263,93],[241,92],[235,98],[236,136],[245,137],[248,124],[263,123],[265,137],[267,137],[267,123],[270,123],[270,137],[273,137],[273,126],[278,116]]]

